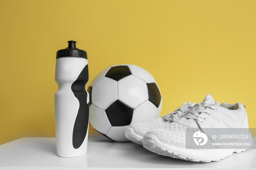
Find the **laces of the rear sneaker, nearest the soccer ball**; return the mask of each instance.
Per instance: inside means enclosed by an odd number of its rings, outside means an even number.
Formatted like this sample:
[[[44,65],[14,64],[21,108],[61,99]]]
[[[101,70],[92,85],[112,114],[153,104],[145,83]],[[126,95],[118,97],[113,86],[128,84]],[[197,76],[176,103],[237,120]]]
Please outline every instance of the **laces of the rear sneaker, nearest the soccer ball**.
[[[182,105],[182,107],[177,108],[175,111],[173,111],[172,113],[169,113],[165,116],[162,116],[163,119],[167,120],[167,121],[174,121],[176,119],[180,119],[181,116],[185,116],[186,111],[185,111],[185,107],[187,107],[187,105],[189,105],[189,108],[193,108],[193,105],[191,104],[191,102],[189,101],[188,103],[184,103]]]

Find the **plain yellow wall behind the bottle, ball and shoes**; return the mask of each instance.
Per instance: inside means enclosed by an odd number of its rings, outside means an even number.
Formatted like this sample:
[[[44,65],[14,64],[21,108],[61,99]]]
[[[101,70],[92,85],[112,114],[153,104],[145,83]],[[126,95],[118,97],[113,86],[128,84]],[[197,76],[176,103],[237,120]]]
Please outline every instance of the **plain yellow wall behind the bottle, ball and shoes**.
[[[107,66],[135,64],[158,82],[161,115],[210,93],[243,103],[256,128],[255,0],[0,0],[0,7],[0,144],[55,136],[55,57],[68,40],[87,51],[89,83]]]

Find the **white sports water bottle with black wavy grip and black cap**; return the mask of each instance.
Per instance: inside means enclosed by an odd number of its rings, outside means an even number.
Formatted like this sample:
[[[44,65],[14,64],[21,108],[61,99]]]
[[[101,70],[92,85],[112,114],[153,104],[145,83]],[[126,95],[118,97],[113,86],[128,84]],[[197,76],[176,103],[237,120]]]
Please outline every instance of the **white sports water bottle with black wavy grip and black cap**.
[[[76,48],[75,41],[57,51],[55,81],[55,131],[57,155],[79,157],[87,152],[89,125],[89,80],[87,53]]]

